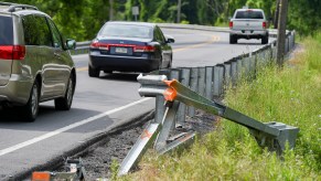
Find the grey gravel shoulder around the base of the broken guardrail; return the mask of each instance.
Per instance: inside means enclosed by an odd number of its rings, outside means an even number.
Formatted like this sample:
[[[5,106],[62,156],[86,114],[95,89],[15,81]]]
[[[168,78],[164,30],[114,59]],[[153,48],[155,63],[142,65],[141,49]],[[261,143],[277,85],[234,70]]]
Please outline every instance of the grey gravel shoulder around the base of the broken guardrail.
[[[183,128],[175,129],[171,135],[183,130],[195,130],[204,135],[214,130],[215,119],[215,116],[197,110],[193,118],[186,117]],[[110,166],[113,160],[121,163],[130,148],[141,135],[143,128],[152,120],[153,119],[147,123],[135,123],[129,129],[117,131],[101,140],[98,145],[87,149],[85,152],[74,156],[74,158],[82,158],[86,171],[86,180],[108,180],[111,177]],[[63,167],[57,169],[57,171],[63,171]]]

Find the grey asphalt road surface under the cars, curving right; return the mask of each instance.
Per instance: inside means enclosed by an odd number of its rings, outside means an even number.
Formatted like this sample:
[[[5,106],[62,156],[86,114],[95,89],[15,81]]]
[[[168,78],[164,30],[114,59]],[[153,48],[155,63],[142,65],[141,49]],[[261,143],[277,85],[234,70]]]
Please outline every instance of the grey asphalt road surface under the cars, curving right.
[[[179,29],[163,32],[175,38],[173,67],[213,66],[261,46],[258,40],[239,40],[239,44],[231,45],[227,33]],[[24,123],[17,119],[14,110],[0,110],[0,180],[39,169],[96,135],[153,109],[154,100],[137,93],[138,74],[101,72],[99,78],[90,78],[88,55],[73,58],[77,86],[69,111],[56,111],[53,102],[47,102],[41,104],[34,123]]]

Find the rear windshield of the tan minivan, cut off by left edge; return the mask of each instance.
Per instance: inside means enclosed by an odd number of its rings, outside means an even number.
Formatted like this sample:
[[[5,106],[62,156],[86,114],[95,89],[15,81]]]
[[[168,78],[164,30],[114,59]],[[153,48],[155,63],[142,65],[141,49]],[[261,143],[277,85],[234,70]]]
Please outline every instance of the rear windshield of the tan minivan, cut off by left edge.
[[[11,17],[0,17],[0,45],[13,44],[13,28]]]

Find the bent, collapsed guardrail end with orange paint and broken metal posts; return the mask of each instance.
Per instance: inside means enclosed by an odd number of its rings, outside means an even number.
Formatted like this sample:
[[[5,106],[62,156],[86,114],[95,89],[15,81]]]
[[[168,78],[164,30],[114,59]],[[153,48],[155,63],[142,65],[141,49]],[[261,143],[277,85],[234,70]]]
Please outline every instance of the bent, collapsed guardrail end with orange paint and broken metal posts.
[[[193,140],[195,131],[182,132],[169,138],[170,131],[175,129],[175,116],[180,103],[204,111],[217,115],[238,125],[245,126],[255,137],[257,143],[270,151],[281,155],[286,149],[293,148],[299,128],[285,125],[282,123],[261,123],[250,118],[237,110],[234,110],[221,103],[205,98],[193,92],[176,79],[168,81],[165,75],[142,75],[138,76],[141,84],[139,94],[142,97],[162,96],[165,99],[165,111],[161,123],[154,120],[141,134],[120,166],[119,175],[127,174],[138,162],[145,151],[154,141],[154,149],[159,153],[164,153],[173,148]]]

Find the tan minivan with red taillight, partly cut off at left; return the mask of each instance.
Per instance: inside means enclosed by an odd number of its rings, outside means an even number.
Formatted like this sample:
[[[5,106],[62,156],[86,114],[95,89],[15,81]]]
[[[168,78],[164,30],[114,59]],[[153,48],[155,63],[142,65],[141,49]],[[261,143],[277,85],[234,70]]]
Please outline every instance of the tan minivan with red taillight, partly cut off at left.
[[[33,121],[39,103],[54,99],[68,110],[76,85],[69,51],[52,19],[26,4],[0,2],[0,109],[17,108]]]

